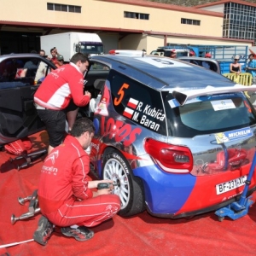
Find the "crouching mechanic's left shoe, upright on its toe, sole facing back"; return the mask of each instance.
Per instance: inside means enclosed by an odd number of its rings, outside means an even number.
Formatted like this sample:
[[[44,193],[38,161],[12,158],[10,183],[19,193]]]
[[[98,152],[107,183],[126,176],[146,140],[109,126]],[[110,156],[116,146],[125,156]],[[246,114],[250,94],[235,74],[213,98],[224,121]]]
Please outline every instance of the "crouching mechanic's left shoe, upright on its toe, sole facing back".
[[[42,216],[38,221],[38,230],[33,235],[34,241],[37,241],[41,245],[46,245],[53,230],[54,225]]]

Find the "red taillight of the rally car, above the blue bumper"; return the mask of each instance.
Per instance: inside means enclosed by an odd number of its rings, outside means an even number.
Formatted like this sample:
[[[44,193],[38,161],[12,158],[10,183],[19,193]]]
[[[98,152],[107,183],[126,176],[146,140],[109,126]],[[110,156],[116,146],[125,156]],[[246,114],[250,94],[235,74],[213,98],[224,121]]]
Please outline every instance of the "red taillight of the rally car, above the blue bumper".
[[[193,168],[193,156],[187,147],[162,143],[153,138],[144,141],[146,152],[165,172],[188,173]]]

